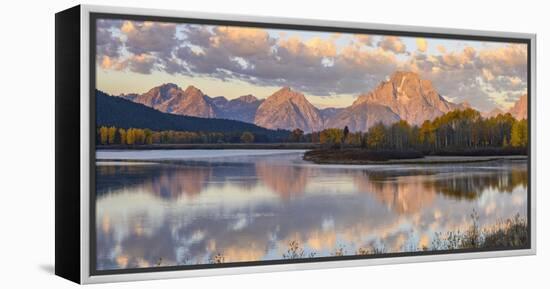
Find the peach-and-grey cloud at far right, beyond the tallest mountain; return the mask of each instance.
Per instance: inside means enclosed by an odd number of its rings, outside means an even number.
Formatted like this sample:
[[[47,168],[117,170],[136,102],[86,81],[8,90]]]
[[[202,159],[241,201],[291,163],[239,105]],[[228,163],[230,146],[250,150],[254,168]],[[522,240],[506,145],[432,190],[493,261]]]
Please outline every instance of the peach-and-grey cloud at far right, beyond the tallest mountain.
[[[490,110],[508,105],[503,95],[514,97],[527,91],[527,54],[521,47],[438,50],[437,55],[413,53],[404,67],[431,80],[443,95]]]

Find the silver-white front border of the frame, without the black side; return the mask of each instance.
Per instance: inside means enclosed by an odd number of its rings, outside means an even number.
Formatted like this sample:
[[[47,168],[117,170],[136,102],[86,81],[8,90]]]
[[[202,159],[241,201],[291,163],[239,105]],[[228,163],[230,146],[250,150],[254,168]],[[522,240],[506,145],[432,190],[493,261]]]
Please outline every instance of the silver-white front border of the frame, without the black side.
[[[433,261],[450,261],[463,259],[479,259],[493,257],[509,257],[509,256],[525,256],[536,255],[536,35],[528,33],[513,33],[513,32],[496,32],[496,31],[481,31],[481,30],[464,30],[453,28],[434,28],[423,26],[403,26],[403,25],[387,25],[373,24],[360,22],[345,22],[345,21],[325,21],[312,19],[295,19],[295,18],[280,18],[280,17],[257,17],[249,15],[230,15],[230,14],[213,14],[203,12],[184,12],[174,10],[159,10],[145,8],[127,8],[127,7],[111,7],[97,5],[81,5],[80,6],[80,281],[82,284],[105,283],[105,282],[124,282],[124,281],[139,281],[167,278],[183,278],[183,277],[202,277],[228,274],[245,274],[245,273],[262,273],[262,272],[281,272],[292,270],[311,270],[311,269],[328,269],[339,267],[355,267],[355,266],[371,266],[371,265],[386,265],[386,264],[405,264],[418,262],[433,262]],[[487,36],[487,37],[507,37],[507,38],[523,38],[531,41],[531,83],[530,85],[530,194],[531,194],[531,248],[510,251],[490,251],[490,252],[472,252],[472,253],[451,253],[451,254],[434,254],[426,256],[406,256],[392,258],[376,258],[364,260],[345,260],[345,261],[323,261],[298,264],[279,264],[279,265],[258,265],[258,266],[242,266],[230,268],[215,268],[215,269],[195,269],[182,271],[162,271],[162,272],[146,272],[146,273],[122,273],[112,275],[90,275],[90,83],[89,83],[89,28],[90,28],[90,13],[115,13],[115,14],[132,14],[144,16],[158,17],[176,17],[176,18],[198,18],[198,19],[213,19],[226,21],[244,21],[244,22],[260,22],[270,24],[290,24],[290,25],[313,25],[321,27],[342,27],[342,28],[359,28],[359,29],[375,29],[375,30],[392,30],[403,32],[423,32],[423,33],[442,33],[465,36]]]

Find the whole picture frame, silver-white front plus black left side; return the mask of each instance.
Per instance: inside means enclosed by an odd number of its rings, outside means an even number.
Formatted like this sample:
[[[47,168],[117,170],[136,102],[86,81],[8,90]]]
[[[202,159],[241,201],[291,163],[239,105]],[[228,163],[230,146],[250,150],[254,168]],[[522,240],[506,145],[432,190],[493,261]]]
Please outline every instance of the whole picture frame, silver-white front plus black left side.
[[[525,161],[528,243],[513,249],[388,252],[250,262],[100,269],[97,264],[97,51],[96,21],[117,19],[212,26],[521,43],[526,46],[528,143]],[[209,14],[78,5],[56,14],[56,266],[76,283],[103,283],[221,274],[338,268],[536,254],[536,36],[534,34],[356,22]],[[347,128],[347,126],[346,126]],[[108,159],[108,158],[107,158]],[[160,261],[159,261],[160,263]]]

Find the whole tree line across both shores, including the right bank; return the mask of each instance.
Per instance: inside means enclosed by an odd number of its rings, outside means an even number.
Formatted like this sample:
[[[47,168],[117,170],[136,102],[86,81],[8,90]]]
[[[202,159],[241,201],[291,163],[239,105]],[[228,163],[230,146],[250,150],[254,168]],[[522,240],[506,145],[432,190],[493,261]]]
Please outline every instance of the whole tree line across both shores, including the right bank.
[[[351,132],[347,127],[310,133],[294,129],[270,140],[249,131],[153,131],[114,126],[98,128],[96,136],[99,148],[311,149],[305,158],[316,162],[385,161],[426,155],[526,155],[529,140],[527,120],[517,120],[510,114],[483,118],[473,109],[451,111],[420,126],[401,120],[393,124],[377,123],[366,132]]]

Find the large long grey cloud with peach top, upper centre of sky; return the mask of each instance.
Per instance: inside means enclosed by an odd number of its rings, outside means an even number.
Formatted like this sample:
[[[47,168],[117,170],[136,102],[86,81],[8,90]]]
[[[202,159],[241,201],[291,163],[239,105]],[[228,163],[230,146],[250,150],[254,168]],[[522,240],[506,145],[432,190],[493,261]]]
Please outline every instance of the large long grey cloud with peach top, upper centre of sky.
[[[339,35],[302,40],[275,39],[262,29],[190,26],[185,31],[189,45],[175,53],[184,63],[180,68],[256,85],[288,85],[315,95],[357,93],[374,87],[396,67],[393,53],[382,49],[349,45],[339,52],[335,44]]]

